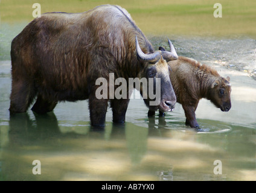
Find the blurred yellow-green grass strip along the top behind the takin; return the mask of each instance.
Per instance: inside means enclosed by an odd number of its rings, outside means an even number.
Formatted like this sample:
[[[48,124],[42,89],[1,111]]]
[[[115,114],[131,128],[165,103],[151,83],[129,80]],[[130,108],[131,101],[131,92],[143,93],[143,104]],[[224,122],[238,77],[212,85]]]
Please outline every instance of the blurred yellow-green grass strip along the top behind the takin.
[[[101,4],[118,4],[146,34],[256,37],[255,0],[2,0],[1,22],[30,22],[34,2],[41,5],[42,13],[82,12]],[[216,2],[222,4],[222,18],[213,16]]]

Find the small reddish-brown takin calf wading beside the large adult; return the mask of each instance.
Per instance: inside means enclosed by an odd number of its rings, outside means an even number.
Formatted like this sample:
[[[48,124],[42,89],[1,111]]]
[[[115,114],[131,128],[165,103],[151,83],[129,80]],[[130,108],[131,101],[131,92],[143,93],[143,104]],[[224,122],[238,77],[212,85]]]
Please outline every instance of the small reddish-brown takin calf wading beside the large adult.
[[[210,100],[223,112],[231,109],[229,77],[223,78],[210,66],[182,56],[179,56],[178,60],[168,62],[168,65],[171,68],[170,79],[177,102],[182,105],[185,112],[186,125],[199,128],[195,112],[201,98]],[[148,115],[155,115],[155,111],[149,110]],[[164,116],[161,110],[159,116]]]

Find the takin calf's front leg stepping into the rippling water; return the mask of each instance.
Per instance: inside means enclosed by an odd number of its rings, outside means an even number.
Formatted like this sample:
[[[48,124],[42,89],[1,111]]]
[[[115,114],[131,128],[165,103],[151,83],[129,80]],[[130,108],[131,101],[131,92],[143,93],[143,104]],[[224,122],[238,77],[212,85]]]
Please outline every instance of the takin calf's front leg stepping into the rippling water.
[[[196,121],[196,107],[197,104],[195,106],[184,106],[182,105],[184,112],[185,112],[185,116],[186,116],[186,125],[190,125],[190,127],[192,128],[199,128],[199,124]]]

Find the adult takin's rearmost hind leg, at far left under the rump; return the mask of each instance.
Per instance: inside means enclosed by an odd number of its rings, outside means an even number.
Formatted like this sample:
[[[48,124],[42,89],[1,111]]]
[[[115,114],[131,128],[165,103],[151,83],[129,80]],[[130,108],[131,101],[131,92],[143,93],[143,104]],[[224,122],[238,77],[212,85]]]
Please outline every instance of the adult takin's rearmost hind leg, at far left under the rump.
[[[26,112],[32,103],[36,91],[33,84],[26,80],[14,80],[11,83],[10,113]]]

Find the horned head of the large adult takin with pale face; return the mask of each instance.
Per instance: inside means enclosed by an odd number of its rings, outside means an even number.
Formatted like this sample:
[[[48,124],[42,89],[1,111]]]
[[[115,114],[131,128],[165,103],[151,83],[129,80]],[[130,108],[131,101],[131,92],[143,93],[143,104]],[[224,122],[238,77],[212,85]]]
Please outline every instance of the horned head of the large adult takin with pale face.
[[[176,95],[170,80],[170,67],[167,62],[177,60],[178,55],[170,40],[168,43],[170,51],[155,51],[152,54],[144,54],[136,37],[136,54],[144,66],[140,77],[146,78],[148,83],[147,89],[140,87],[140,90],[150,110],[171,111],[176,103]]]

